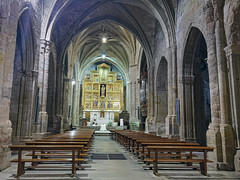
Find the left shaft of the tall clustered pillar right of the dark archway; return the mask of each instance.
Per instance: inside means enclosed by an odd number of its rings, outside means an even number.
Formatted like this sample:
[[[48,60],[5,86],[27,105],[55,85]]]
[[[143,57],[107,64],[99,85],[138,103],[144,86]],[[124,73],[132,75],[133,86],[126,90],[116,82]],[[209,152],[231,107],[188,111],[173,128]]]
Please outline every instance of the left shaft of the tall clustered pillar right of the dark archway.
[[[206,28],[207,37],[206,43],[208,46],[208,70],[209,70],[209,86],[211,98],[211,123],[207,130],[207,145],[214,147],[213,152],[209,152],[209,158],[214,161],[214,166],[217,166],[218,161],[222,161],[222,144],[220,135],[220,102],[219,102],[219,87],[218,87],[218,69],[216,59],[216,40],[215,40],[215,22],[214,9],[210,1],[204,7],[206,13]]]

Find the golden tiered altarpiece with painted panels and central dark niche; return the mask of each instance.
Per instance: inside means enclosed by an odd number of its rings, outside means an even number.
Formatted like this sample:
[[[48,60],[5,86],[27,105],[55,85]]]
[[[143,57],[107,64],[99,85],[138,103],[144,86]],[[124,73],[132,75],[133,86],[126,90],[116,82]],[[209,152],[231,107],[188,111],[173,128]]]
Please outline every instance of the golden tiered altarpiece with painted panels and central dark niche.
[[[117,80],[117,73],[103,63],[90,77],[83,79],[83,117],[91,125],[108,124],[118,119],[123,109],[123,81]]]

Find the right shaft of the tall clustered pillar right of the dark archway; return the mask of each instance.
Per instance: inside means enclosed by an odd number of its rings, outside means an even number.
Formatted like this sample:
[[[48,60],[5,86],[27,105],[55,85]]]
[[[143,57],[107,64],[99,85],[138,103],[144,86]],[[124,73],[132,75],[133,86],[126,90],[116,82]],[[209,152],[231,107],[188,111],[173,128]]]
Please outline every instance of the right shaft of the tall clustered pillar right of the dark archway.
[[[219,99],[221,111],[220,133],[222,140],[223,161],[218,162],[222,170],[233,170],[234,141],[230,116],[229,87],[227,80],[227,60],[224,52],[226,47],[226,36],[223,23],[223,0],[213,0],[215,35],[216,35],[216,56],[218,66]]]

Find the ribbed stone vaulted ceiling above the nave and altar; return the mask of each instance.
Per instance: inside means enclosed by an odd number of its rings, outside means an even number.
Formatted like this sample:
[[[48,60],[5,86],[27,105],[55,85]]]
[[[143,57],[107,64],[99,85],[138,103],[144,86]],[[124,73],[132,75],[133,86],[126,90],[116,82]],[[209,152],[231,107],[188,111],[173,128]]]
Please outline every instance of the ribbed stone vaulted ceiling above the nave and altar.
[[[80,68],[105,52],[107,61],[127,73],[139,63],[142,50],[152,58],[156,26],[168,44],[174,41],[174,0],[57,0],[52,5],[48,29],[58,59],[71,53],[72,63]],[[103,33],[108,38],[104,45]]]

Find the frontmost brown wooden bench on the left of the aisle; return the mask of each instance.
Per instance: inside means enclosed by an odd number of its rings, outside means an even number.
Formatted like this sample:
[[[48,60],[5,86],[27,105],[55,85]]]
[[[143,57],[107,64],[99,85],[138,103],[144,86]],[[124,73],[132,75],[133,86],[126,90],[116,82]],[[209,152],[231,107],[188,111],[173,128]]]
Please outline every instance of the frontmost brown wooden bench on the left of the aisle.
[[[71,162],[72,163],[72,176],[76,174],[76,163],[84,161],[84,159],[79,158],[80,157],[80,151],[82,150],[84,146],[83,145],[11,145],[10,149],[12,151],[18,151],[18,158],[12,160],[11,162],[17,162],[18,163],[18,169],[16,177],[21,176],[25,173],[25,163],[31,162],[32,167],[36,168],[38,162],[50,162],[50,163],[56,163],[56,162]],[[71,150],[72,151],[72,157],[71,158],[55,158],[55,159],[38,159],[38,157],[35,155],[35,151],[47,151],[47,150]],[[22,158],[22,151],[32,151],[32,158],[31,159],[23,159]],[[75,151],[78,151],[76,158]]]

